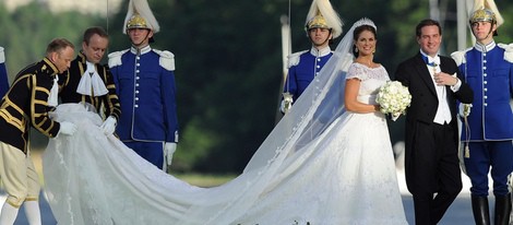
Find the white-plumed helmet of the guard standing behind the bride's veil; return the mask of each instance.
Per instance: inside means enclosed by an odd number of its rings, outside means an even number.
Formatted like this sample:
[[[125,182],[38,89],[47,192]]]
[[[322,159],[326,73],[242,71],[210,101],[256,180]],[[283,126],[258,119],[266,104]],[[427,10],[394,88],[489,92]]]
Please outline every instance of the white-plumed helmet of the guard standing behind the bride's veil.
[[[329,28],[332,31],[333,38],[337,38],[342,34],[342,20],[338,13],[333,10],[330,0],[313,0],[307,14],[305,29]]]

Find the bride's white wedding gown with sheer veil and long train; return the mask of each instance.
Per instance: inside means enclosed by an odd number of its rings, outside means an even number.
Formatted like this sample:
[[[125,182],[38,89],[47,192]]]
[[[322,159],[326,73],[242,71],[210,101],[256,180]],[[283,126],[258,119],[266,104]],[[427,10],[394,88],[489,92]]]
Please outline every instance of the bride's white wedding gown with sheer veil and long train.
[[[349,112],[346,79],[357,99],[375,104],[389,80],[383,67],[353,63],[355,23],[321,74],[253,155],[244,171],[213,188],[191,186],[141,158],[87,106],[60,105],[58,121],[80,128],[44,153],[45,192],[59,224],[407,224],[386,120]],[[349,60],[347,60],[349,59]]]

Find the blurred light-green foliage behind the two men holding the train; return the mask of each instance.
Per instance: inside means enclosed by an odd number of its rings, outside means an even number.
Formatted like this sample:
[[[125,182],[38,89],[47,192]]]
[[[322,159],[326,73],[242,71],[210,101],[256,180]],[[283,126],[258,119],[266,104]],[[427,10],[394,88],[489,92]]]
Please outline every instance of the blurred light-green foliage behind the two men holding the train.
[[[103,20],[98,16],[84,15],[77,12],[51,14],[46,4],[35,1],[8,12],[0,4],[0,46],[5,49],[5,64],[9,80],[12,82],[16,73],[27,64],[45,57],[47,44],[56,37],[64,37],[81,48],[82,33],[91,25]],[[35,149],[46,146],[47,138],[33,130],[31,144]]]

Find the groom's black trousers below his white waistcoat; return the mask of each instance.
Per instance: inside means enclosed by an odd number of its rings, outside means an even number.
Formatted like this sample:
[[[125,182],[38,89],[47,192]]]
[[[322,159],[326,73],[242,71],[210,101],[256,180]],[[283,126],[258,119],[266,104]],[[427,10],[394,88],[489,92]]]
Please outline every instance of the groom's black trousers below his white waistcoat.
[[[433,225],[440,222],[463,188],[456,133],[450,125],[420,122],[416,132],[407,168],[415,224]]]

